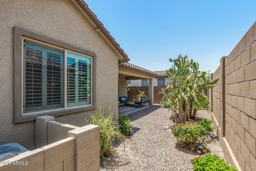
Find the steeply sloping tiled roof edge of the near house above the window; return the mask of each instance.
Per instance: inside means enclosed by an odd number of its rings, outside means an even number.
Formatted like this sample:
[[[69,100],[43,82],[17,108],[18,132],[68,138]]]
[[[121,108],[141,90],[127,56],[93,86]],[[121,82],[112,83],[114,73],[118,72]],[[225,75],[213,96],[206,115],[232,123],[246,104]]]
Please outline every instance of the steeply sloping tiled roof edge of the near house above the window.
[[[124,58],[122,62],[128,62],[130,59],[128,55],[124,52],[124,50],[120,47],[120,45],[116,42],[115,38],[110,35],[110,32],[103,26],[103,23],[97,18],[91,9],[89,9],[88,5],[83,0],[75,0],[79,6],[84,10],[84,12],[88,15],[88,17],[94,22],[94,24],[98,27],[103,35],[109,40],[109,42],[116,48],[116,50],[121,54]]]

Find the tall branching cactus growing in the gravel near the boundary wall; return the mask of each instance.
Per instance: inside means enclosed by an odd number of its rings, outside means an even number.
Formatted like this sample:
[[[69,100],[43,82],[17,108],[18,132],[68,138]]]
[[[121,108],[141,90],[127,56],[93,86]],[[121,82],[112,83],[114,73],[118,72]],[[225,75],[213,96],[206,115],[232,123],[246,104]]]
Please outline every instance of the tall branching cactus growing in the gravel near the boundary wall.
[[[166,74],[171,82],[159,92],[163,94],[161,106],[169,107],[176,123],[186,123],[187,118],[193,116],[191,110],[194,108],[196,112],[199,105],[207,105],[209,108],[204,90],[213,88],[218,82],[218,79],[210,81],[210,71],[199,71],[198,63],[187,58],[187,55],[180,54],[177,59],[170,59],[173,65]]]

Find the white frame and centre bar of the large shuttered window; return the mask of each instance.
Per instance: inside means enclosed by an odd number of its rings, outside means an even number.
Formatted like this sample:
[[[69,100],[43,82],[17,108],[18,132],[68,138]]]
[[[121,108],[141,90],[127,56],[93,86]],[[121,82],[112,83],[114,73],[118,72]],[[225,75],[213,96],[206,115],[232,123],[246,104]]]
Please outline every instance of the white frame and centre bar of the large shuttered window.
[[[24,112],[23,110],[23,105],[24,104],[24,101],[23,101],[23,97],[25,96],[24,94],[24,70],[25,70],[25,67],[24,67],[24,40],[28,40],[29,42],[32,42],[32,43],[36,43],[36,44],[39,44],[39,45],[43,45],[43,46],[47,46],[47,47],[52,47],[52,48],[55,48],[55,49],[58,49],[58,50],[61,50],[64,52],[64,107],[63,108],[58,108],[58,109],[46,109],[46,110],[40,110],[40,111],[32,111],[32,112]],[[91,59],[91,104],[86,104],[86,105],[78,105],[78,106],[75,106],[75,107],[67,107],[67,52],[71,52],[71,53],[76,53],[76,54],[79,54],[79,55],[82,55],[82,56],[85,56],[86,58],[90,58]],[[51,111],[59,111],[59,110],[63,110],[63,109],[73,109],[73,108],[84,108],[84,107],[92,107],[93,106],[93,58],[92,56],[89,56],[89,55],[85,55],[85,54],[82,54],[82,53],[78,53],[78,52],[74,52],[74,51],[71,51],[71,50],[67,50],[66,48],[61,48],[61,47],[58,47],[58,46],[54,46],[54,45],[51,45],[51,44],[47,44],[47,43],[43,43],[43,42],[40,42],[38,40],[35,40],[35,39],[31,39],[31,38],[28,38],[28,37],[25,37],[25,36],[22,36],[22,99],[21,99],[21,115],[22,116],[25,116],[25,115],[34,115],[34,114],[37,114],[37,113],[44,113],[44,112],[51,112]]]

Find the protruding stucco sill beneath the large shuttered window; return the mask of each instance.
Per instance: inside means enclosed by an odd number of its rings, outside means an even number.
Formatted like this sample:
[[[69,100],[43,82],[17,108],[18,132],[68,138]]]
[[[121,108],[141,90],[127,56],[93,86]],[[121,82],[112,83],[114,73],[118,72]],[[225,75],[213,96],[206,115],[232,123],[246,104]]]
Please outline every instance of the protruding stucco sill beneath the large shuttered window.
[[[68,108],[68,109],[58,109],[58,110],[49,110],[49,111],[38,111],[31,114],[23,114],[19,117],[14,117],[14,124],[19,123],[26,123],[28,121],[35,121],[37,116],[43,116],[43,115],[49,115],[49,116],[63,116],[63,115],[69,115],[77,112],[83,112],[83,111],[92,111],[95,107],[93,105],[86,106],[86,107],[74,107],[74,108]]]

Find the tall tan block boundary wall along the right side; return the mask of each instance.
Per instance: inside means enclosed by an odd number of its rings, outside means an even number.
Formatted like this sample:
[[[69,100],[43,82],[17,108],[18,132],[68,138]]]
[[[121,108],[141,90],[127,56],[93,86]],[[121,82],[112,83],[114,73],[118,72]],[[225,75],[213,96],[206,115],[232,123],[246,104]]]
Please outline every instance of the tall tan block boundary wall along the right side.
[[[256,22],[228,56],[222,57],[209,89],[215,130],[225,158],[256,170]]]

